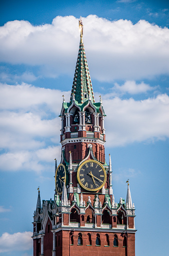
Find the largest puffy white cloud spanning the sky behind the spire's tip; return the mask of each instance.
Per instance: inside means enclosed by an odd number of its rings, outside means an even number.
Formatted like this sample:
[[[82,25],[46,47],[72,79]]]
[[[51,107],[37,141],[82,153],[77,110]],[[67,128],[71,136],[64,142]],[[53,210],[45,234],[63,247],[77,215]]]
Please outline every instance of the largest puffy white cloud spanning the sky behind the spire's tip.
[[[111,22],[94,15],[82,20],[92,78],[138,80],[169,73],[167,28],[144,20],[136,24],[127,20]],[[78,44],[78,20],[73,16],[57,16],[52,24],[41,26],[12,21],[0,27],[1,61],[38,65],[44,76],[72,75]]]

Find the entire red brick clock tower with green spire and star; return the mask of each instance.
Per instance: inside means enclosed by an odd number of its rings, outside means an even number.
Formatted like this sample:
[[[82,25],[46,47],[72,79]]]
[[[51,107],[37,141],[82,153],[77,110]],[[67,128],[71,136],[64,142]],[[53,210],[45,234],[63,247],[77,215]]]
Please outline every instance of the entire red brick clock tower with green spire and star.
[[[60,112],[61,159],[55,161],[53,200],[38,192],[33,216],[33,256],[135,255],[135,209],[129,184],[126,200],[115,203],[109,155],[105,161],[105,113],[94,101],[82,41],[69,102]]]

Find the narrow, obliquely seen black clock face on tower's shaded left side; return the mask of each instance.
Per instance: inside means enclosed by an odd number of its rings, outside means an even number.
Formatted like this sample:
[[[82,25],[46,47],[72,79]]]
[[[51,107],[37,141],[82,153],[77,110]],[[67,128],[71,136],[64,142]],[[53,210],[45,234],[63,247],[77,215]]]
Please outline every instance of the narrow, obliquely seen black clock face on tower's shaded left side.
[[[65,166],[60,163],[55,172],[55,190],[58,195],[62,194],[63,184],[65,183]]]

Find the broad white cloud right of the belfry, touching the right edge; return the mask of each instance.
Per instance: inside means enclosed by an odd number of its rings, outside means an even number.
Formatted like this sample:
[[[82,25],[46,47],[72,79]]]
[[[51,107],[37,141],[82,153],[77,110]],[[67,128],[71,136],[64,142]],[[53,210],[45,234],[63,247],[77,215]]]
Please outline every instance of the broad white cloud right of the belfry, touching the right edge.
[[[169,137],[169,97],[158,95],[142,101],[103,100],[106,145],[123,146],[142,141],[163,140]]]

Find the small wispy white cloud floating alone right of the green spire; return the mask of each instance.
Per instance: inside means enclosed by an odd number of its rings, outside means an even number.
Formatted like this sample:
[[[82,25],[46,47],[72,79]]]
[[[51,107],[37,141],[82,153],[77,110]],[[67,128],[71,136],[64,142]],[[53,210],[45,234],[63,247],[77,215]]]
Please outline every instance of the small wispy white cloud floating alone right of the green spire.
[[[125,81],[122,86],[116,82],[114,83],[113,91],[119,91],[121,93],[128,94],[141,94],[146,93],[147,91],[155,90],[156,87],[150,87],[149,84],[144,82],[136,83],[135,81]]]

